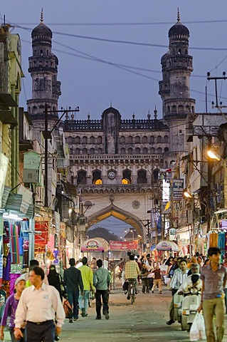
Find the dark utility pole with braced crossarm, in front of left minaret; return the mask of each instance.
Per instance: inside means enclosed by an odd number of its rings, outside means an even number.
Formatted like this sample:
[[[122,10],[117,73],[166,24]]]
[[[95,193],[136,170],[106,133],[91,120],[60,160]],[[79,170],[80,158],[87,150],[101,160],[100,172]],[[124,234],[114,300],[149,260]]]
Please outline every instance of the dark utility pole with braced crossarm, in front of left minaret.
[[[45,190],[44,190],[44,206],[48,207],[48,139],[51,139],[51,133],[53,132],[53,130],[56,128],[56,126],[58,125],[58,123],[60,122],[60,120],[63,118],[63,115],[65,115],[66,113],[70,113],[70,112],[79,112],[80,108],[77,107],[75,109],[71,109],[69,107],[69,109],[63,109],[61,108],[61,110],[48,110],[48,104],[45,104],[45,126],[44,126],[44,140],[45,140],[45,153],[44,153],[44,185],[45,185]],[[48,131],[48,113],[63,113],[60,118],[58,119],[58,121],[56,122],[56,124],[53,126],[51,131]]]

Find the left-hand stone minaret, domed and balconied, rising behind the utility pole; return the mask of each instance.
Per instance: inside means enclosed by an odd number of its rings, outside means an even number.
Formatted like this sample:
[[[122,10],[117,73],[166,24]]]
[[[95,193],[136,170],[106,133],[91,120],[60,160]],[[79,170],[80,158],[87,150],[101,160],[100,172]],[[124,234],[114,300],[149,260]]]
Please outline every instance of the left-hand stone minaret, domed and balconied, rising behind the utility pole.
[[[28,113],[31,115],[35,127],[44,125],[44,108],[48,104],[48,111],[58,110],[60,96],[60,82],[58,76],[58,58],[51,52],[52,31],[43,24],[43,10],[41,22],[32,33],[32,55],[28,58],[32,78],[32,98],[27,101]],[[57,113],[48,113],[48,123],[54,124],[58,120]]]

